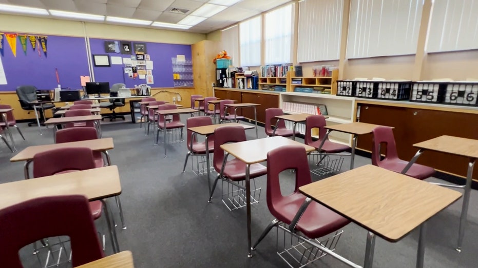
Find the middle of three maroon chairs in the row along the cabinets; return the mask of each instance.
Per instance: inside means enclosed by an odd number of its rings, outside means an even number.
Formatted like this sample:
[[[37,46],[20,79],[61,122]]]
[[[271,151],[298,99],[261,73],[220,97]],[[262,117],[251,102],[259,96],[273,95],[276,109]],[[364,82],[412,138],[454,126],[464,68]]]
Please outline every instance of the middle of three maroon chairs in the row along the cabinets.
[[[320,143],[322,143],[322,140],[326,136],[326,133],[327,133],[327,129],[325,128],[326,126],[327,126],[326,118],[323,117],[322,115],[310,115],[307,118],[305,118],[304,143],[306,145],[315,147],[315,149],[317,150],[320,146]],[[314,140],[312,138],[311,132],[312,132],[312,129],[314,128],[319,129],[319,138],[317,140]],[[340,153],[340,152],[345,152],[347,150],[350,150],[349,146],[330,141],[329,137],[326,138],[326,140],[323,142],[322,148],[320,148],[320,152],[323,152],[326,154]]]

